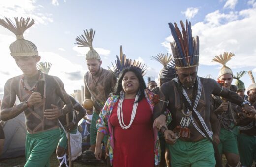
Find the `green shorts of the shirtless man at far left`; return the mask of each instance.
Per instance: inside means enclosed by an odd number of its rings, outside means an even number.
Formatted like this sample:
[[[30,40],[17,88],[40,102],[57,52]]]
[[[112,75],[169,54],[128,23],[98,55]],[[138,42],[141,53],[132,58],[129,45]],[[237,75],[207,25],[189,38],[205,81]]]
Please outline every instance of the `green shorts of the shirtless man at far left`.
[[[24,167],[50,167],[50,157],[60,139],[59,129],[52,129],[26,137],[26,164]]]

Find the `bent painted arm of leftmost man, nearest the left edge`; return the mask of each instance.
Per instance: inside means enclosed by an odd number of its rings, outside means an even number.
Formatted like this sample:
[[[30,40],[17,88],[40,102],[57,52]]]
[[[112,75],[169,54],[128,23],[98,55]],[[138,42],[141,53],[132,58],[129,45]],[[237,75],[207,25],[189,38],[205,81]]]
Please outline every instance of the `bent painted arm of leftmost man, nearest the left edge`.
[[[13,79],[9,79],[4,86],[4,95],[3,95],[1,110],[0,110],[0,119],[4,121],[15,118],[21,112],[28,109],[25,101],[21,102],[18,105],[14,104],[16,101],[16,93],[13,87],[15,85],[13,85],[12,83],[13,83]]]

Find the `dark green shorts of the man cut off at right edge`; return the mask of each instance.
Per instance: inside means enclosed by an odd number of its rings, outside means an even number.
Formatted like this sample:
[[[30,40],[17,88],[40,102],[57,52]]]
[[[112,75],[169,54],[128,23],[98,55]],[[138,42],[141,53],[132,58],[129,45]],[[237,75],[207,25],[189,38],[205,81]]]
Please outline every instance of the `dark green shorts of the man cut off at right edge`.
[[[241,164],[251,167],[256,162],[256,136],[238,134],[237,140]]]

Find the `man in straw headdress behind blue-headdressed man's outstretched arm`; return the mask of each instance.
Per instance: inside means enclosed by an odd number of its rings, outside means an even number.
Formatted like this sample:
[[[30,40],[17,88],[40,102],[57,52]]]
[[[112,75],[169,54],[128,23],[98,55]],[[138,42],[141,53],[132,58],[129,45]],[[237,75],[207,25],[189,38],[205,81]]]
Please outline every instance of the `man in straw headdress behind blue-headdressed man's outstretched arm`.
[[[225,88],[232,91],[233,72],[226,66],[226,63],[233,57],[233,53],[221,54],[215,56],[213,61],[219,62],[223,65],[218,75],[218,82]],[[233,90],[236,92],[236,90]],[[237,167],[239,166],[239,153],[237,146],[237,134],[238,129],[235,127],[237,112],[236,104],[228,102],[219,96],[213,96],[213,107],[214,112],[221,124],[220,131],[220,143],[218,145],[219,153],[223,153],[226,156],[227,164],[226,167]]]

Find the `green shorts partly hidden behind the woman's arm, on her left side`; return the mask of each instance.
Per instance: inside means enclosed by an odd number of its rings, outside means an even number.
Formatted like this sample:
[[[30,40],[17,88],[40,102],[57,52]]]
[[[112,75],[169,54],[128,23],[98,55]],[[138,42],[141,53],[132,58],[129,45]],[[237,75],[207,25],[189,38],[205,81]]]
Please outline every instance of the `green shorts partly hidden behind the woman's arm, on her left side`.
[[[96,144],[96,138],[97,138],[97,128],[96,128],[96,121],[99,119],[99,114],[96,112],[93,112],[92,122],[90,126],[90,144],[95,145]],[[104,136],[103,142],[105,145],[107,144],[107,136]]]

